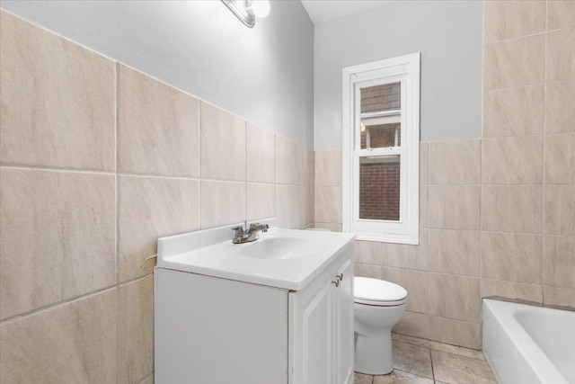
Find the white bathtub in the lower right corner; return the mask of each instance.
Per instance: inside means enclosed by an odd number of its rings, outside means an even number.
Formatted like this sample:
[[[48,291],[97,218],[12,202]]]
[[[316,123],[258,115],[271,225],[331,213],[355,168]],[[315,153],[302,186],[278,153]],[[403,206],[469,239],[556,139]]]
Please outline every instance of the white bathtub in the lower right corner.
[[[575,312],[483,299],[482,319],[500,384],[575,384]]]

